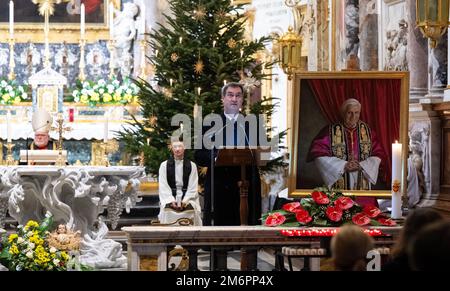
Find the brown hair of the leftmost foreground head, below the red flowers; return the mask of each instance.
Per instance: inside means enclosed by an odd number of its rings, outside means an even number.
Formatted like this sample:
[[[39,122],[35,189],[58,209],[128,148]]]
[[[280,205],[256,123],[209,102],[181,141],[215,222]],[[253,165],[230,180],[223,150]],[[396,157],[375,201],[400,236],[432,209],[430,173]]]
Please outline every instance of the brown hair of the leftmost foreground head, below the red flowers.
[[[365,271],[367,253],[374,241],[359,226],[346,224],[331,239],[331,253],[336,270]]]

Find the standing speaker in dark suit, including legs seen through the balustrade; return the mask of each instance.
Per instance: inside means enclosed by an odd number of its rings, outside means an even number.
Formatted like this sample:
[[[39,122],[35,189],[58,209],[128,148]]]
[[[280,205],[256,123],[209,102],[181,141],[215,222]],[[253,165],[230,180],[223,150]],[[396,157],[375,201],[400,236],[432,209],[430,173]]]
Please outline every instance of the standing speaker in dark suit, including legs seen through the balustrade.
[[[240,114],[244,101],[244,89],[239,83],[228,83],[222,88],[223,112],[213,118],[214,125],[203,128],[203,148],[195,152],[198,165],[208,167],[205,180],[203,225],[243,225],[240,218],[240,166],[215,166],[221,146],[256,146],[258,145],[258,124],[249,126],[246,118]],[[208,118],[208,117],[206,117]],[[256,121],[256,118],[254,119]],[[248,121],[248,120],[247,120]],[[251,131],[250,131],[251,129]],[[256,134],[252,134],[256,133]],[[205,144],[211,138],[213,145]],[[213,161],[212,161],[213,160]],[[256,160],[247,166],[249,225],[260,224],[261,217],[261,181]],[[214,179],[211,169],[214,167]],[[214,207],[211,208],[211,204]],[[213,210],[213,211],[211,211]],[[211,253],[211,269],[226,270],[226,252],[231,249],[214,248]],[[257,269],[257,250],[245,250],[242,253],[241,267],[246,270]]]

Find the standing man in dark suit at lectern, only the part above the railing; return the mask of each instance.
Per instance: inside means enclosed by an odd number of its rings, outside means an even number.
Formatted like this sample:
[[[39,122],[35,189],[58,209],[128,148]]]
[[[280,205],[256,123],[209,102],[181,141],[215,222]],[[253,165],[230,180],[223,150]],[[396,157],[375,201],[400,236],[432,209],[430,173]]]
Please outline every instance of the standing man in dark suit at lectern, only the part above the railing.
[[[239,166],[214,167],[214,212],[211,213],[211,151],[214,159],[217,158],[218,146],[256,146],[257,136],[249,134],[249,126],[244,122],[240,109],[244,100],[244,90],[239,83],[228,83],[222,88],[222,103],[224,111],[221,113],[221,126],[214,124],[216,131],[211,127],[204,127],[204,136],[212,135],[213,149],[203,144],[201,150],[195,152],[198,165],[208,167],[205,180],[205,215],[203,225],[241,225],[240,221],[240,191],[238,182],[241,180]],[[254,138],[253,138],[254,137]],[[261,181],[258,168],[254,163],[246,169],[246,179],[249,181],[248,193],[248,224],[260,224],[261,217]]]

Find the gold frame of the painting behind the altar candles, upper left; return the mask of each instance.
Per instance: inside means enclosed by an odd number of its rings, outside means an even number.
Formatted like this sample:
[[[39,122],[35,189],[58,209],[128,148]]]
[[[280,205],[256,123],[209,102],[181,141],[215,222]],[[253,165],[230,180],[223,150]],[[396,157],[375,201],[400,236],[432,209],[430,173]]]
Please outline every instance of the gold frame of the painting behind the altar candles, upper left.
[[[18,1],[18,0],[16,0]],[[44,17],[39,16],[39,21],[30,22],[30,21],[21,21],[21,13],[19,13],[18,9],[24,9],[26,5],[34,5],[31,0],[26,0],[26,4],[17,3],[14,6],[14,40],[16,43],[43,43],[44,40]],[[110,0],[114,4],[114,8],[120,10],[121,0]],[[4,3],[3,3],[4,2]],[[86,19],[86,41],[87,42],[95,42],[97,40],[108,40],[109,39],[109,23],[108,23],[108,14],[109,9],[108,0],[103,0],[102,3],[102,22],[101,23],[92,23],[89,22],[88,18]],[[61,4],[57,4],[57,8],[59,5],[67,5],[68,3],[63,2]],[[4,7],[0,7],[1,11],[5,14],[3,17],[0,17],[0,38],[8,39],[9,38],[9,24],[8,24],[8,5],[9,1],[1,1],[0,5],[4,5]],[[26,8],[26,7],[25,7]],[[0,15],[2,16],[2,15]],[[37,17],[37,16],[36,16]],[[77,18],[79,19],[79,17]],[[72,22],[54,22],[54,17],[50,16],[50,32],[49,32],[49,42],[50,43],[61,43],[64,40],[66,43],[78,43],[80,41],[80,23],[79,20]]]

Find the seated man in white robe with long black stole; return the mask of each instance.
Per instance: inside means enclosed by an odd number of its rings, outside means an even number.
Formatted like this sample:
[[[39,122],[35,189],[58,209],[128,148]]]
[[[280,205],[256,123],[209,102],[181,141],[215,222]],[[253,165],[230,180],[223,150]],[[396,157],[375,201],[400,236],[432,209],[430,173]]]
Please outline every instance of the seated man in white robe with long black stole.
[[[202,225],[197,166],[184,157],[182,141],[172,140],[170,149],[172,156],[159,167],[159,221],[172,224],[189,218]]]

